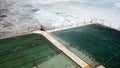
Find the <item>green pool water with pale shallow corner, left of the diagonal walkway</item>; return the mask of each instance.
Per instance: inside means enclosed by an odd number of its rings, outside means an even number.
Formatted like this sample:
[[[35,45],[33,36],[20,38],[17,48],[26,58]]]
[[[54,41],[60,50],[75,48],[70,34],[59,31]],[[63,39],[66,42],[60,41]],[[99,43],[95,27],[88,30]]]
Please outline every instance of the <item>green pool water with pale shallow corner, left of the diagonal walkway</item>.
[[[68,65],[69,68],[77,67],[42,35],[28,34],[0,40],[0,68],[66,68]]]

